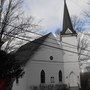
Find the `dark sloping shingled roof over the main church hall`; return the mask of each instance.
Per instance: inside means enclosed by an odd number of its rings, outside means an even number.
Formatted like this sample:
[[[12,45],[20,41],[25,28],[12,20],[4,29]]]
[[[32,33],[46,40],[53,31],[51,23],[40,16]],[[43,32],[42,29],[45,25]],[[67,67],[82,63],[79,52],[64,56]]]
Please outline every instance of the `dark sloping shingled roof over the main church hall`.
[[[50,33],[21,46],[15,53],[16,61],[21,65],[25,65],[49,35]]]

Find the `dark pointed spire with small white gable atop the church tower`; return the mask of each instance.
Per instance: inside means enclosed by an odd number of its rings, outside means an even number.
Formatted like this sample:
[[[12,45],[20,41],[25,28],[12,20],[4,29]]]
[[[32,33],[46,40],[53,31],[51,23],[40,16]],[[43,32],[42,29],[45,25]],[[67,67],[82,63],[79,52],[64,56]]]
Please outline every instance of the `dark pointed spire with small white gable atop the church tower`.
[[[61,31],[61,35],[69,34],[74,35],[76,34],[76,31],[73,29],[71,18],[66,5],[66,0],[64,0],[63,30]]]

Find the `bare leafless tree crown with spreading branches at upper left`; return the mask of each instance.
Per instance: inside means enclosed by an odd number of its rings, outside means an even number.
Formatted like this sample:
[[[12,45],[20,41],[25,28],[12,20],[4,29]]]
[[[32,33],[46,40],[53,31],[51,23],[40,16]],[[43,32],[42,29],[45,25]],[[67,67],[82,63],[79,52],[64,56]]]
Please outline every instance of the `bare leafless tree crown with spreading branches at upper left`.
[[[0,42],[5,43],[8,40],[5,51],[7,51],[10,42],[14,39],[11,36],[18,36],[22,33],[24,36],[26,30],[31,31],[38,28],[38,23],[34,22],[32,16],[23,16],[24,12],[20,8],[22,3],[22,0],[1,0]]]

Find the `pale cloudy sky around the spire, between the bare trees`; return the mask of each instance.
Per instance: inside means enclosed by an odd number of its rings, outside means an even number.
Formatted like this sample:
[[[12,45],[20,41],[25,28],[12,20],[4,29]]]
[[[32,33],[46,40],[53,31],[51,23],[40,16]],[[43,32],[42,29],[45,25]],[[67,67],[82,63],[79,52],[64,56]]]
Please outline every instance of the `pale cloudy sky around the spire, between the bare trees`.
[[[66,0],[70,16],[83,18],[83,11],[87,10],[88,0]],[[25,0],[24,10],[35,20],[41,20],[43,29],[54,31],[62,28],[64,0]],[[89,24],[86,24],[86,28]]]

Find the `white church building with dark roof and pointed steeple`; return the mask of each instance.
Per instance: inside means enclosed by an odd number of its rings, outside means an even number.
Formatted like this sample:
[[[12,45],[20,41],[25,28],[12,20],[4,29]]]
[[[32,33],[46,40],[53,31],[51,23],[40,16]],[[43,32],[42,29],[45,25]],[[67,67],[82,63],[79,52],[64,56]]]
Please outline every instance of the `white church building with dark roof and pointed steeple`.
[[[25,74],[18,84],[14,82],[12,90],[30,90],[31,86],[40,84],[80,86],[77,32],[73,29],[65,1],[60,40],[49,33],[21,46],[15,55]]]

